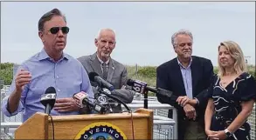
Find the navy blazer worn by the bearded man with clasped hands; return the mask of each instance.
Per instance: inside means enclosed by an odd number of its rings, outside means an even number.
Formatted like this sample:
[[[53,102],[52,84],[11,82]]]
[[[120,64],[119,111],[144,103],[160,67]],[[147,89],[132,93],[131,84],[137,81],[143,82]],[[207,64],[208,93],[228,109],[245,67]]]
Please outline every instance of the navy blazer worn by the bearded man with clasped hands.
[[[204,127],[204,111],[208,102],[207,89],[211,84],[211,78],[213,76],[213,66],[211,60],[192,56],[191,77],[192,77],[192,94],[199,101],[199,104],[195,106],[197,111],[197,121]],[[163,88],[165,90],[172,91],[171,97],[163,97],[156,95],[160,103],[169,103],[177,110],[178,119],[178,137],[183,139],[184,126],[189,120],[185,116],[183,107],[176,103],[176,99],[179,96],[186,96],[186,91],[183,84],[183,76],[180,70],[180,66],[177,63],[177,58],[163,63],[156,69],[156,87]],[[172,112],[169,111],[169,117]]]

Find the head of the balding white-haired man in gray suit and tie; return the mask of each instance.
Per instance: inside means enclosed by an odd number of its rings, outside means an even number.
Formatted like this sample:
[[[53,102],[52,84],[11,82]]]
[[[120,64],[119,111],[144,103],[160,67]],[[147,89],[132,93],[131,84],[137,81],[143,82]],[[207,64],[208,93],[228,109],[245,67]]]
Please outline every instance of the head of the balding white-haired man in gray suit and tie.
[[[102,29],[100,30],[98,37],[94,40],[95,46],[97,47],[97,55],[100,59],[106,62],[112,50],[115,47],[115,34],[114,30]]]

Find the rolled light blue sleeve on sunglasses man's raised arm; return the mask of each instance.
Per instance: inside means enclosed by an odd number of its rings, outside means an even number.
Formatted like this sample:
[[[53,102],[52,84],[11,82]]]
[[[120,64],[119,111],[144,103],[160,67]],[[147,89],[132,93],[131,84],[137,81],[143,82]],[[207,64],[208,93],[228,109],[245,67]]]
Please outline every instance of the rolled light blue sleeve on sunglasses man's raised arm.
[[[17,71],[20,70],[20,68],[18,68]],[[15,88],[16,88],[15,80],[12,80],[12,82],[10,84],[10,88],[7,91],[6,97],[4,97],[3,100],[2,100],[2,112],[6,117],[15,116],[15,115],[17,115],[17,113],[24,110],[24,99],[27,95],[26,93],[27,93],[27,90],[28,90],[28,84],[26,84],[24,86],[24,90],[21,93],[21,97],[20,97],[20,100],[19,100],[19,103],[18,103],[17,110],[15,110],[12,113],[10,113],[10,111],[8,110],[8,108],[9,108],[9,106],[8,106],[9,105],[9,97],[10,97],[10,94],[15,90]]]

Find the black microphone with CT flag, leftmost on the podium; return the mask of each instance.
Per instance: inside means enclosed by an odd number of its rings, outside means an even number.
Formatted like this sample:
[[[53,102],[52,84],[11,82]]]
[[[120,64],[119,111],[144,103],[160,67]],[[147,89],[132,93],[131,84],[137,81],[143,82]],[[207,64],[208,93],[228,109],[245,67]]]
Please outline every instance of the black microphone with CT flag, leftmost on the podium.
[[[45,90],[45,94],[41,96],[40,103],[45,106],[45,113],[50,114],[52,107],[56,101],[56,90],[54,87],[49,87]]]

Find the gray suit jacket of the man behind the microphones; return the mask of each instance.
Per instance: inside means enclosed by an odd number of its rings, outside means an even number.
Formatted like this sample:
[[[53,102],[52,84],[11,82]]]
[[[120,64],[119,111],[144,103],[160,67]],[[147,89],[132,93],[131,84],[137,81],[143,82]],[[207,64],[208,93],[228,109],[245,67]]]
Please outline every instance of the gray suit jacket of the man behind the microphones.
[[[102,71],[101,71],[101,67],[100,67],[100,61],[97,58],[97,54],[94,53],[93,55],[89,55],[89,56],[84,56],[84,57],[79,57],[78,60],[80,61],[80,63],[82,63],[82,65],[84,66],[87,74],[89,74],[90,72],[96,72],[97,74],[99,74],[100,77],[102,76]],[[110,58],[109,60],[109,66],[108,66],[108,70],[107,70],[107,82],[111,83],[114,86],[115,90],[120,90],[122,85],[126,85],[128,80],[128,72],[126,67],[115,61],[114,59]],[[93,83],[91,81],[92,86],[96,86],[96,83]],[[135,92],[133,92],[132,90],[126,90],[126,89],[122,89],[121,90],[122,94],[125,96],[125,98],[128,98],[129,100],[122,100],[125,103],[131,103],[133,100],[133,95],[135,94]],[[121,106],[115,106],[113,107],[114,112],[121,112]]]

